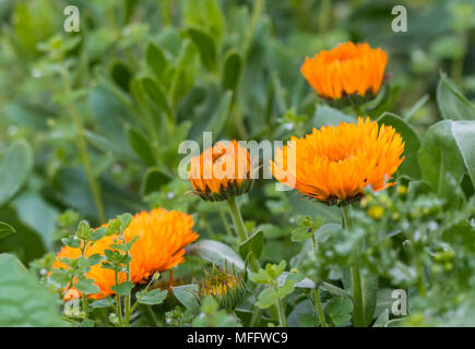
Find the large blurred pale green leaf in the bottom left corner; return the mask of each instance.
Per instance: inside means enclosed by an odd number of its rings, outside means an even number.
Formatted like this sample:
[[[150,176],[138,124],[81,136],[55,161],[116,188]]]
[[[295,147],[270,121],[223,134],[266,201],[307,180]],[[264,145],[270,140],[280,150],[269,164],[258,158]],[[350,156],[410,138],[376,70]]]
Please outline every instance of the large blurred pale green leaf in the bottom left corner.
[[[0,254],[0,326],[68,326],[55,294],[12,254]]]

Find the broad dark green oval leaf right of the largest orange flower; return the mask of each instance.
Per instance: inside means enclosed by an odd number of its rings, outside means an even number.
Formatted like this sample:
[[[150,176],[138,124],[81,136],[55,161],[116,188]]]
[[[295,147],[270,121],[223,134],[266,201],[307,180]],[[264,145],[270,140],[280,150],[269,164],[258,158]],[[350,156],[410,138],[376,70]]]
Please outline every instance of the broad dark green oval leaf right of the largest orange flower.
[[[418,155],[423,180],[437,194],[453,196],[450,180],[454,179],[460,183],[465,169],[452,135],[452,121],[444,120],[431,125],[424,136]]]

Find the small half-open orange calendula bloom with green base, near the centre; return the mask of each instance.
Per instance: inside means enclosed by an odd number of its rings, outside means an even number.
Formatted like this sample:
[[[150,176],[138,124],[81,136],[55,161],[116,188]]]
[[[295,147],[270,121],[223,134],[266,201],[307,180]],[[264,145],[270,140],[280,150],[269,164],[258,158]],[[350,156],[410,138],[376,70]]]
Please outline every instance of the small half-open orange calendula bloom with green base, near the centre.
[[[222,201],[241,195],[251,188],[251,158],[237,141],[218,142],[193,157],[190,181],[194,192],[206,201]]]

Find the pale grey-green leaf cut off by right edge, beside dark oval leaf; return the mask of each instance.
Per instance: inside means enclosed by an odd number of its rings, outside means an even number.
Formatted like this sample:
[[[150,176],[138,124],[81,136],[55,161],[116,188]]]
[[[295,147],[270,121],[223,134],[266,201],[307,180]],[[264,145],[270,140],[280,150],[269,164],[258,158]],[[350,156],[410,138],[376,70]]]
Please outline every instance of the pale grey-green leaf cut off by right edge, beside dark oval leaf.
[[[452,122],[452,134],[475,188],[475,121]]]

